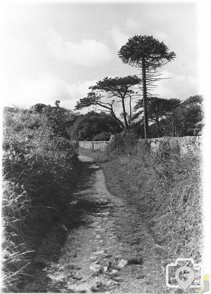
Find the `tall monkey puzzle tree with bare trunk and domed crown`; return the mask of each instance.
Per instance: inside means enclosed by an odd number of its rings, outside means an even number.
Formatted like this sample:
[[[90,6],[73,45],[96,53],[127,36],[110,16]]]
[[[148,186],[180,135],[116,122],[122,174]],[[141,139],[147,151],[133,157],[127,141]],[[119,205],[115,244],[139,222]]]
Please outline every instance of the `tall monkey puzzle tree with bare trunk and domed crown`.
[[[174,52],[168,52],[168,47],[153,36],[134,36],[121,47],[118,52],[123,63],[141,69],[143,90],[143,109],[144,109],[144,132],[145,139],[148,138],[148,113],[147,95],[152,95],[148,91],[156,87],[153,83],[160,80],[160,75],[156,75],[156,69],[176,57]]]

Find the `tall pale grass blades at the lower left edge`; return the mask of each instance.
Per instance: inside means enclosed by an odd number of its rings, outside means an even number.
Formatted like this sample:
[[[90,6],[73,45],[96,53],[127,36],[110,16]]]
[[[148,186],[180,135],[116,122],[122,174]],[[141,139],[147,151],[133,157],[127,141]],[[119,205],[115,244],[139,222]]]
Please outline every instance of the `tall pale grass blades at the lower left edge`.
[[[30,264],[26,225],[29,214],[27,206],[31,201],[27,199],[25,189],[10,181],[3,182],[2,199],[2,291],[18,291],[17,284],[23,275],[28,273]]]

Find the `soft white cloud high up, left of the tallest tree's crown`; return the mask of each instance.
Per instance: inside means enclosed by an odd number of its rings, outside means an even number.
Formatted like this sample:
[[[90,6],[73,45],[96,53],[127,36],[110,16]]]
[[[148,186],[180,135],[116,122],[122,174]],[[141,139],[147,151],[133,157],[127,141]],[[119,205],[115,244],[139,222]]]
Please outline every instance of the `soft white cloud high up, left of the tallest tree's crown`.
[[[47,46],[51,54],[83,66],[101,66],[113,58],[109,47],[94,39],[81,39],[80,42],[65,41],[53,29],[47,30]]]

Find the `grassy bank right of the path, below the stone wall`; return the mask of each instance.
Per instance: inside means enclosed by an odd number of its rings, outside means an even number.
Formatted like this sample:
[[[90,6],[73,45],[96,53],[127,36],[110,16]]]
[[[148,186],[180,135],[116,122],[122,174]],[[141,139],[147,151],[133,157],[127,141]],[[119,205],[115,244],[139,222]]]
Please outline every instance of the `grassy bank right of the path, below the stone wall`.
[[[149,224],[163,265],[176,258],[200,262],[202,247],[202,179],[200,154],[180,157],[176,146],[115,144],[109,153],[90,152],[101,162],[111,193],[135,205]],[[123,152],[122,152],[123,151]]]

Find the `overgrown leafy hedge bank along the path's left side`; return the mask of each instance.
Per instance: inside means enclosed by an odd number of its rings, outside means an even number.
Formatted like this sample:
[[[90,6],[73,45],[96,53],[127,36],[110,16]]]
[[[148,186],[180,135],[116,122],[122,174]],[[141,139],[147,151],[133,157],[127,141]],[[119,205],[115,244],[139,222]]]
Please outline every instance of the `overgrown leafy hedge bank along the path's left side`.
[[[18,292],[41,238],[61,219],[78,174],[77,148],[41,114],[4,112],[2,292]]]

